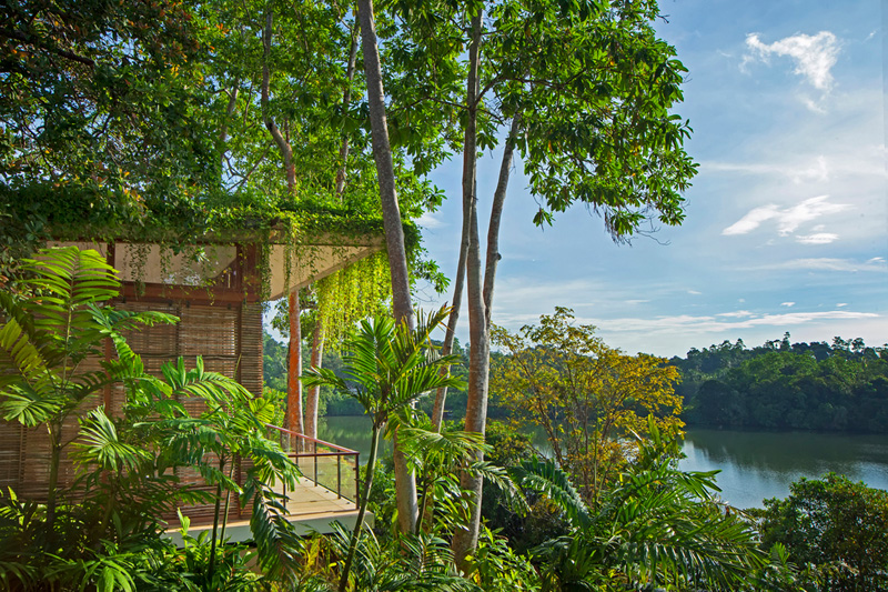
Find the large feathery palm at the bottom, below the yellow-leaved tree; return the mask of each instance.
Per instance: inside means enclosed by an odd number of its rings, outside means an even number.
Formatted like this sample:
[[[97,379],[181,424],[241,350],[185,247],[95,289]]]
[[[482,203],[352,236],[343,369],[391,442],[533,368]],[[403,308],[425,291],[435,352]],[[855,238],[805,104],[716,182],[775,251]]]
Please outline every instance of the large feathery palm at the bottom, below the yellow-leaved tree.
[[[650,423],[639,456],[591,512],[552,463],[525,463],[521,483],[543,489],[573,524],[535,550],[543,590],[736,590],[765,564],[750,520],[720,503],[713,472],[684,472]]]

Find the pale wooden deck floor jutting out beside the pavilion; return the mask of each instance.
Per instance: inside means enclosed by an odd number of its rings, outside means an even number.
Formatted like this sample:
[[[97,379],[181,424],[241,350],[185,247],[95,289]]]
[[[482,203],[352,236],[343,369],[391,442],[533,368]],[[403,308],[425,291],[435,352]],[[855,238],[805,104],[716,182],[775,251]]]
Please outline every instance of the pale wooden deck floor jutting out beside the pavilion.
[[[287,492],[286,512],[287,520],[293,524],[299,534],[333,532],[333,523],[340,522],[347,530],[354,528],[357,519],[357,506],[345,498],[339,498],[336,492],[322,485],[315,485],[311,480],[302,478],[293,491]],[[373,526],[374,515],[367,513],[364,522]],[[182,544],[179,525],[170,525],[167,535],[178,545]],[[192,524],[189,534],[196,538],[202,531],[211,531],[212,524]],[[249,520],[229,522],[225,526],[225,538],[231,542],[243,542],[252,539]]]

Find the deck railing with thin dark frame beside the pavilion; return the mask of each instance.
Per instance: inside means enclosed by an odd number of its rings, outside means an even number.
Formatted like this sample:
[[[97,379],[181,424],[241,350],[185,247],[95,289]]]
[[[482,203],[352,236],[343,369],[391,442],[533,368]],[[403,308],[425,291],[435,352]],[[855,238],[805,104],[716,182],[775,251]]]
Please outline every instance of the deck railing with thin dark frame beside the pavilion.
[[[312,481],[315,486],[329,489],[340,499],[345,498],[357,503],[361,489],[360,452],[309,438],[279,425],[270,423],[265,425],[269,438],[280,442],[287,456],[293,459],[302,471],[304,479]]]

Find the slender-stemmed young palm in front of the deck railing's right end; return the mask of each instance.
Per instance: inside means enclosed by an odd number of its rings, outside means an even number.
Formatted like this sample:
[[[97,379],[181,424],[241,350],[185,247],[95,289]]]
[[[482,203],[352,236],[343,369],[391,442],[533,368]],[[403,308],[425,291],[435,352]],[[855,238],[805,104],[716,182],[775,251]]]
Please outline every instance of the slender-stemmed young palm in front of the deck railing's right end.
[[[440,385],[458,381],[441,369],[453,363],[451,357],[437,357],[430,335],[446,314],[446,309],[422,319],[414,331],[406,322],[397,325],[390,318],[376,317],[361,322],[357,332],[346,341],[343,375],[330,369],[311,369],[303,377],[307,385],[329,384],[356,399],[370,415],[372,437],[367,478],[359,503],[357,519],[340,578],[340,591],[349,584],[350,571],[362,534],[369,493],[373,486],[380,434],[392,414],[416,398]]]

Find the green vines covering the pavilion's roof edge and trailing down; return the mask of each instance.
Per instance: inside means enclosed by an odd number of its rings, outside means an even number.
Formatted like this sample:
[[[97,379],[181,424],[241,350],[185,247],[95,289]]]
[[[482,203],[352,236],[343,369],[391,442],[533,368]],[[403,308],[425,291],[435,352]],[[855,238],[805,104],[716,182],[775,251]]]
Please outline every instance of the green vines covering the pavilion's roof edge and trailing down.
[[[100,195],[83,187],[73,189],[47,183],[13,191],[0,184],[0,208],[18,220],[44,221],[49,234],[57,241],[134,244],[132,252],[137,258],[137,268],[143,267],[139,263],[143,264],[148,258],[147,245],[158,244],[164,273],[176,254],[198,263],[211,260],[216,248],[238,243],[256,244],[262,300],[270,297],[272,245],[282,244],[285,248],[283,272],[289,284],[293,273],[293,257],[302,254],[303,258],[311,258],[312,244],[319,238],[339,241],[346,248],[355,239],[383,234],[382,219],[377,213],[293,200],[279,203],[245,199],[232,202],[231,198],[142,201],[113,193]],[[0,230],[0,239],[17,240],[4,233],[4,230]],[[405,221],[404,234],[411,252],[420,253],[417,227]],[[357,299],[367,298],[366,302],[385,300],[381,291],[381,284],[387,280],[387,261],[384,268],[381,262],[384,259],[383,255],[371,258],[371,262],[359,261],[334,273],[319,288],[335,302],[325,307],[330,310],[331,338],[342,330],[346,319],[353,322],[363,317],[360,313],[363,310],[361,304],[349,294]],[[356,284],[349,288],[349,282]],[[369,298],[371,294],[373,298]],[[344,308],[333,312],[335,307]]]

